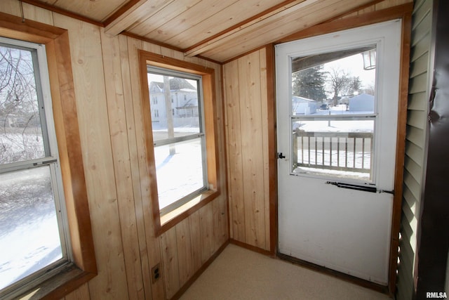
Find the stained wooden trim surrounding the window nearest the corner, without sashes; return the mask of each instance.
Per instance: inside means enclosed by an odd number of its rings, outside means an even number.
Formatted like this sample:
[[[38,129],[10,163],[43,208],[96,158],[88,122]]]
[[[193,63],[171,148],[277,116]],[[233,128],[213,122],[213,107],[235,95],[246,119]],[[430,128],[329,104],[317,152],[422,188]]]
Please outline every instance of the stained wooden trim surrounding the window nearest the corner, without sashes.
[[[220,195],[218,151],[217,151],[217,110],[215,100],[215,70],[184,60],[168,58],[156,53],[139,50],[142,122],[145,135],[145,155],[149,174],[149,190],[152,204],[155,235],[159,236],[195,211]],[[167,70],[199,75],[202,79],[204,133],[206,135],[206,161],[208,190],[203,191],[182,206],[161,216],[154,162],[152,114],[150,110],[147,67],[161,67]]]

